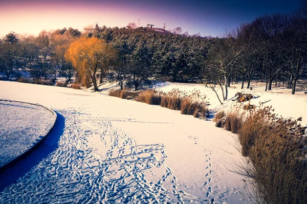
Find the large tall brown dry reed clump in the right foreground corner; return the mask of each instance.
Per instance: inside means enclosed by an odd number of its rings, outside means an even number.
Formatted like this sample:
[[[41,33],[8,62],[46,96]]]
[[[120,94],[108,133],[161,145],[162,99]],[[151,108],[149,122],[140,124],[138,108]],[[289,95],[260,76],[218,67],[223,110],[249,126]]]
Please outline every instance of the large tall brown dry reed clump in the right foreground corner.
[[[265,107],[243,122],[238,131],[242,154],[250,165],[238,167],[253,178],[258,200],[264,203],[306,203],[306,127],[277,118]]]

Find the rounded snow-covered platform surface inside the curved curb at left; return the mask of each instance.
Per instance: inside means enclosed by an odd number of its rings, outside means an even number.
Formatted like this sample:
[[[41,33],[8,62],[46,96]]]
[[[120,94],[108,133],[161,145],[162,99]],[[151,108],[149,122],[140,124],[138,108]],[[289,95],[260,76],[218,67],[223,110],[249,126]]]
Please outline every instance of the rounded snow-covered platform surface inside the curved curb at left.
[[[0,100],[0,167],[43,139],[55,122],[53,112],[29,103]]]

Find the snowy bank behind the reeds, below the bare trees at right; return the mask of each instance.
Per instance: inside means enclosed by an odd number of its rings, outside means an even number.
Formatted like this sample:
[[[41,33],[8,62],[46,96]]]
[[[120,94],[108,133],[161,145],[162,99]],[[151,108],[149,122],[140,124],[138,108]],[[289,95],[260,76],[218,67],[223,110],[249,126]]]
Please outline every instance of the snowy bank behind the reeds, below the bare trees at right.
[[[259,107],[262,106],[271,106],[274,109],[274,112],[278,116],[284,118],[293,118],[294,120],[302,117],[302,125],[307,124],[307,94],[305,92],[296,92],[295,95],[291,94],[291,89],[287,88],[277,88],[273,87],[272,90],[265,92],[265,84],[261,83],[252,83],[253,90],[250,89],[241,89],[240,84],[232,85],[231,88],[228,88],[228,99],[223,101],[222,90],[216,86],[216,91],[220,96],[220,99],[224,103],[220,104],[216,94],[209,87],[205,87],[204,84],[185,84],[185,83],[158,83],[153,88],[161,90],[163,92],[170,92],[172,89],[179,89],[187,93],[195,92],[199,90],[203,96],[206,96],[206,101],[209,103],[208,108],[211,111],[218,111],[220,109],[226,109],[231,111],[236,102],[232,101],[235,98],[237,92],[243,92],[247,94],[252,94],[255,98],[245,102],[245,104],[252,104]]]

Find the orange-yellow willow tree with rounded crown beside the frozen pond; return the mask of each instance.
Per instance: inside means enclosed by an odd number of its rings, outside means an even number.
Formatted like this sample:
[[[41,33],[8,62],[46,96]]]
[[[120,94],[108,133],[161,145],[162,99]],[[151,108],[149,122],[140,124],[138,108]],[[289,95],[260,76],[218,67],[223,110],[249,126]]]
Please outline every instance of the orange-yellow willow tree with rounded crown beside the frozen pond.
[[[72,42],[65,53],[81,79],[90,76],[94,90],[98,90],[96,72],[103,69],[107,58],[115,58],[116,51],[104,40],[96,37],[81,37]]]

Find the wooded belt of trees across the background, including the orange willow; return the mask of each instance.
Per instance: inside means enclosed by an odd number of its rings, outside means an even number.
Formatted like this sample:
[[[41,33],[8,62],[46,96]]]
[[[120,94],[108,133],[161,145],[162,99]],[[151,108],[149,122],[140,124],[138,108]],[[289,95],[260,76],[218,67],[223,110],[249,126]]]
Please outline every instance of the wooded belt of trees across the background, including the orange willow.
[[[33,78],[52,74],[67,82],[76,74],[95,90],[105,78],[136,90],[153,79],[214,84],[224,100],[231,82],[249,88],[259,79],[265,90],[283,82],[294,94],[307,71],[306,2],[294,14],[262,15],[221,37],[98,25],[83,33],[64,28],[37,37],[11,32],[0,39],[0,71],[7,78],[23,69]]]

